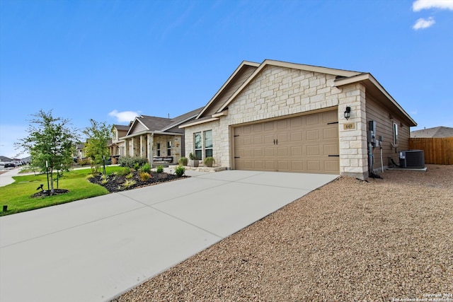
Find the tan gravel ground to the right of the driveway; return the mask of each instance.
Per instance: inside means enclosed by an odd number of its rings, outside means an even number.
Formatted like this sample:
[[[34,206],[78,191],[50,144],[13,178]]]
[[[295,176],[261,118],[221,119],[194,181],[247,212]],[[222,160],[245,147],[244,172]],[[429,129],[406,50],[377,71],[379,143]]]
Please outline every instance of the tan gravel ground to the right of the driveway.
[[[340,178],[115,301],[453,301],[453,165],[427,167]]]

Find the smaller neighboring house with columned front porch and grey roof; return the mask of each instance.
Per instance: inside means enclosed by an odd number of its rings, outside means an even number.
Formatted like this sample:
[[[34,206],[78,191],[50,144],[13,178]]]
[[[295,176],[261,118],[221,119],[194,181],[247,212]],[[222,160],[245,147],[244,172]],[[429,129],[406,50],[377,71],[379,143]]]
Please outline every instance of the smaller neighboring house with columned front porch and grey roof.
[[[125,141],[125,155],[147,158],[151,165],[154,159],[178,163],[181,154],[185,153],[184,130],[178,126],[193,120],[201,109],[172,119],[147,115],[135,117],[127,134],[120,137]]]

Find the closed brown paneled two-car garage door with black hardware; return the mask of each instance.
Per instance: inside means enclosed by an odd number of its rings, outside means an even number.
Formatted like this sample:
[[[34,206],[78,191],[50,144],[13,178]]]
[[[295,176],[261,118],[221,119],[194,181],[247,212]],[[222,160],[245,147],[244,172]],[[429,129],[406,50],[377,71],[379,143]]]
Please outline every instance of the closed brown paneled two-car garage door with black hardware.
[[[237,170],[339,173],[337,111],[234,127]]]

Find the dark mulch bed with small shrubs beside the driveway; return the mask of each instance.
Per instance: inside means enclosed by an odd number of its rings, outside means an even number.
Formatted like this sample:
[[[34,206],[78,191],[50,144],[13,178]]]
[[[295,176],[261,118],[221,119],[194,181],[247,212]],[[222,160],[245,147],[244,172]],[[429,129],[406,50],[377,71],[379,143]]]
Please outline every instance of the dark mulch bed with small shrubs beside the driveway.
[[[169,173],[156,173],[151,171],[149,173],[151,177],[149,180],[141,180],[139,177],[139,173],[137,171],[132,171],[132,178],[127,179],[126,176],[123,175],[107,175],[108,182],[102,183],[103,178],[102,175],[97,175],[96,177],[90,178],[90,182],[96,183],[97,185],[102,185],[108,192],[120,192],[125,190],[136,189],[137,187],[147,187],[149,185],[157,185],[162,182],[168,182],[173,180],[178,180],[181,178],[188,178],[189,176],[183,175],[182,177],[178,177],[178,175],[169,174]],[[134,180],[135,184],[130,185],[129,187],[124,187],[123,184],[126,180]]]

